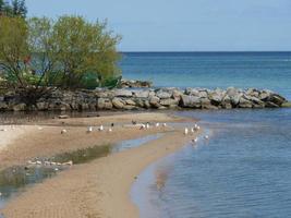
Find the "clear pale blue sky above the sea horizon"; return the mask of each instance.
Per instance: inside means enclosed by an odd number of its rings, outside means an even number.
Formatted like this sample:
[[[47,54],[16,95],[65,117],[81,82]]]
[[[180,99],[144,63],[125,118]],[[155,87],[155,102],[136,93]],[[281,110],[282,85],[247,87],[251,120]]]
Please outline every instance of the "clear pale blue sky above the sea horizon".
[[[291,0],[26,0],[28,16],[108,20],[121,51],[290,51]]]

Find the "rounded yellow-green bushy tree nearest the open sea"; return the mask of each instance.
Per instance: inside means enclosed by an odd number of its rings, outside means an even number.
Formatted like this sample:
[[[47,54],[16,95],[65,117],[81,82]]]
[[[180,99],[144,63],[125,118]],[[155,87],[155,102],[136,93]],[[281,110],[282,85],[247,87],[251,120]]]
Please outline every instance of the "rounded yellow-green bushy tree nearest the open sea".
[[[120,75],[116,65],[120,58],[116,46],[120,39],[107,31],[106,22],[60,17],[53,26],[53,40],[63,87],[82,87],[86,76],[104,84]]]

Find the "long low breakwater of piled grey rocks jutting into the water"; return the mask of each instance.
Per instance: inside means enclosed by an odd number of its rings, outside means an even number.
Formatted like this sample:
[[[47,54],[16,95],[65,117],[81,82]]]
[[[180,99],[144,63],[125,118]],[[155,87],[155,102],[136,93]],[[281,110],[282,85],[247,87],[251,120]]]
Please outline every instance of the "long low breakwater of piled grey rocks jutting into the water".
[[[206,88],[146,88],[146,89],[95,89],[59,90],[41,97],[27,106],[13,92],[0,96],[1,111],[21,110],[137,110],[137,109],[231,109],[231,108],[278,108],[287,100],[271,90],[230,87]]]

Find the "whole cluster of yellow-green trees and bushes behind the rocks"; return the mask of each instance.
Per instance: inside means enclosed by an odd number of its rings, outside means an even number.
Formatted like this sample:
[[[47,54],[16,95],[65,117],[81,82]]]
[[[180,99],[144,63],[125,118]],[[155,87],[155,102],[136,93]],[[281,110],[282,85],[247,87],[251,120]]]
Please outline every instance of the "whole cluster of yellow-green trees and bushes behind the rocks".
[[[121,37],[108,31],[106,21],[88,22],[75,15],[25,19],[24,1],[15,2],[22,12],[9,15],[9,4],[4,3],[5,12],[0,19],[2,86],[34,104],[51,87],[75,89],[118,84],[121,71],[117,66],[117,45]]]

